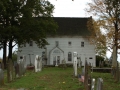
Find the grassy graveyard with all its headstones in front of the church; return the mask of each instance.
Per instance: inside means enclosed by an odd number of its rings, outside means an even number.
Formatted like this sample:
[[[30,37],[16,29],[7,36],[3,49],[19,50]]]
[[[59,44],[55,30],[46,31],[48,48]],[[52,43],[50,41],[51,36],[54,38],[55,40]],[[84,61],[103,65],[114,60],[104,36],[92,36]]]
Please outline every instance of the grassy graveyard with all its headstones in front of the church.
[[[77,52],[74,52],[73,65],[69,67],[65,64],[65,60],[62,61],[62,68],[43,67],[41,60],[41,57],[36,55],[34,69],[27,69],[24,57],[15,64],[9,60],[7,70],[0,65],[0,90],[119,90],[120,88],[119,73],[116,73],[119,72],[118,69],[118,71],[111,69],[111,72],[106,73],[94,72],[87,58],[85,65],[81,66]],[[100,68],[102,67],[97,67]]]

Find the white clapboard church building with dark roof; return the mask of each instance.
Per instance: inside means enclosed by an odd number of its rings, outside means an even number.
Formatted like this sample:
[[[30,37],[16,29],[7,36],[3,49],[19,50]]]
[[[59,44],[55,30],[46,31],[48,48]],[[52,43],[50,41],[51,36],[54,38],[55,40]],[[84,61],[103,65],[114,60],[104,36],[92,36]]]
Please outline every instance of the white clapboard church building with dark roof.
[[[90,32],[87,29],[87,21],[91,17],[54,17],[58,24],[55,36],[48,36],[46,40],[49,45],[46,48],[38,48],[34,41],[27,43],[24,47],[18,48],[18,60],[24,56],[26,65],[30,62],[34,65],[35,56],[42,57],[44,65],[59,65],[62,60],[67,64],[73,63],[73,53],[78,53],[84,66],[85,59],[94,67],[96,66],[95,46],[90,43]]]

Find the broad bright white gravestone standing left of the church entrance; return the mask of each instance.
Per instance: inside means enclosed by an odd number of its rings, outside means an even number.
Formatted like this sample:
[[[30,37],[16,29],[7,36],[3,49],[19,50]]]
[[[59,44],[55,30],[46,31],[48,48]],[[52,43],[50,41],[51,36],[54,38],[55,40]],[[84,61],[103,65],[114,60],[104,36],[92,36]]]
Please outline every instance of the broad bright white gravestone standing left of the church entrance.
[[[42,58],[39,55],[35,57],[35,72],[42,70]]]

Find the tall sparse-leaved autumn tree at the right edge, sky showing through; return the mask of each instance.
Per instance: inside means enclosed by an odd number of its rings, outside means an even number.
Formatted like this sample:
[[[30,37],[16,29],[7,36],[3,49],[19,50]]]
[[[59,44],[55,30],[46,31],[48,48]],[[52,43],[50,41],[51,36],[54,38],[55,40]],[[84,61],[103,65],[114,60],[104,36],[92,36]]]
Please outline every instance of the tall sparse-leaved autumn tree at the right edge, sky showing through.
[[[98,18],[97,22],[100,22],[106,36],[107,47],[116,48],[114,55],[117,57],[120,47],[120,0],[92,0],[91,3],[88,3],[86,11]]]

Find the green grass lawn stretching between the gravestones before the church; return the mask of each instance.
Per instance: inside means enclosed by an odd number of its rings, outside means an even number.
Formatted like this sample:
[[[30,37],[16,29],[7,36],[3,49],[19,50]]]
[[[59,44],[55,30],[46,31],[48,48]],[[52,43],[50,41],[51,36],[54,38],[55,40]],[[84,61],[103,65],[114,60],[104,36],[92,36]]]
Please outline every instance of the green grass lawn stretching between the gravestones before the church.
[[[78,70],[80,73],[81,70]],[[92,73],[92,77],[103,78],[104,90],[120,90],[120,83],[115,83],[110,73]],[[59,67],[44,68],[41,72],[27,71],[20,79],[11,83],[6,82],[0,90],[16,90],[25,88],[27,90],[84,90],[84,85],[73,77],[73,68],[62,69]]]

